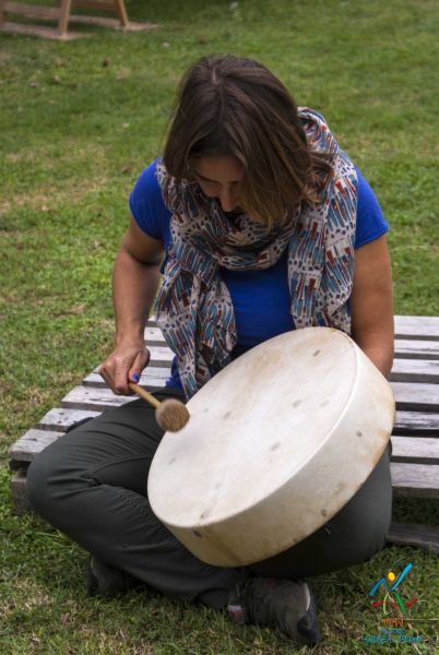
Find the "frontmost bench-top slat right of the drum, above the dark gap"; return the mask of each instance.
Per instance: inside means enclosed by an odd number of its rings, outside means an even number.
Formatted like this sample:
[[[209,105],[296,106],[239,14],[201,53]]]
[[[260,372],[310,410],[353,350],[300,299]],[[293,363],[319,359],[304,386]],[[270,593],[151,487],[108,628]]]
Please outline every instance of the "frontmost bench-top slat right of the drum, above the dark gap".
[[[439,466],[431,464],[390,464],[395,497],[439,498]]]

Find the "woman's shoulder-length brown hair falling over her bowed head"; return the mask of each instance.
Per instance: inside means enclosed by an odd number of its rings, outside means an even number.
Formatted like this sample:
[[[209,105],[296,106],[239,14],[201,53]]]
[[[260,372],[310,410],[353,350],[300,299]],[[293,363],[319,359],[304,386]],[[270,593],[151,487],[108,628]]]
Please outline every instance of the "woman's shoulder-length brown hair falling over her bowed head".
[[[187,71],[163,162],[178,188],[193,179],[192,157],[216,155],[242,164],[239,205],[270,227],[287,209],[317,202],[332,174],[328,157],[310,151],[282,82],[262,64],[234,56],[203,57]]]

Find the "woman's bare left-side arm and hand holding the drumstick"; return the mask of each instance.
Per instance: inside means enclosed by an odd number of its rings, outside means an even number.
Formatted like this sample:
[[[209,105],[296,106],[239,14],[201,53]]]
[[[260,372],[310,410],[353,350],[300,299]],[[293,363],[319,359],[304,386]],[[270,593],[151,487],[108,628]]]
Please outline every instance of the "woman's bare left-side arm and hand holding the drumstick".
[[[99,373],[115,393],[131,394],[128,380],[150,360],[144,329],[159,283],[163,243],[146,236],[131,218],[112,274],[115,349]]]

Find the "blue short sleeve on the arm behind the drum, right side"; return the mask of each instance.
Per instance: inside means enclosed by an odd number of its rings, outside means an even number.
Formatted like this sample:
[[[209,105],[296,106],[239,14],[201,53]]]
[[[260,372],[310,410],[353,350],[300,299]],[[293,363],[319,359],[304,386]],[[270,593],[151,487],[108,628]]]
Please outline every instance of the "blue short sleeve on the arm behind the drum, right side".
[[[358,204],[355,248],[359,248],[384,235],[389,230],[389,224],[373,191],[358,168],[356,171],[358,176]]]

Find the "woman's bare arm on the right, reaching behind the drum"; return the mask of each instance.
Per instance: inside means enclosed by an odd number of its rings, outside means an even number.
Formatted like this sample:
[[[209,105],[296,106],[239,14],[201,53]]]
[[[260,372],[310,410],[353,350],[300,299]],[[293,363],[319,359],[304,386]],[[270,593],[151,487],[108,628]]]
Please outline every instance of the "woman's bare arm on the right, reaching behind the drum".
[[[351,310],[353,340],[389,378],[394,331],[392,270],[385,236],[355,251]]]

